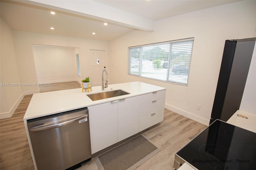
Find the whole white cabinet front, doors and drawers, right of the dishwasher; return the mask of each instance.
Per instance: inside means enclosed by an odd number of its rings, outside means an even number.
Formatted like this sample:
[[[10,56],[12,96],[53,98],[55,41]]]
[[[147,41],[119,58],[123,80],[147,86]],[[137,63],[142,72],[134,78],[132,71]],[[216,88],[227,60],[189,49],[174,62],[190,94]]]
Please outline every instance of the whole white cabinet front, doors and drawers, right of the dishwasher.
[[[92,154],[164,119],[166,90],[88,107]]]

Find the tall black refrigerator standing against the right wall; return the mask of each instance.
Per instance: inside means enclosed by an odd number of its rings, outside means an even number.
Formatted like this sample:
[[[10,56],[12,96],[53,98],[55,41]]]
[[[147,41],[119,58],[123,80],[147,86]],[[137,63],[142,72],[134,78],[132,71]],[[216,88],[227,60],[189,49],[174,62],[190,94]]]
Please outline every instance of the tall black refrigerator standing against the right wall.
[[[210,124],[228,119],[239,109],[256,38],[226,40]]]

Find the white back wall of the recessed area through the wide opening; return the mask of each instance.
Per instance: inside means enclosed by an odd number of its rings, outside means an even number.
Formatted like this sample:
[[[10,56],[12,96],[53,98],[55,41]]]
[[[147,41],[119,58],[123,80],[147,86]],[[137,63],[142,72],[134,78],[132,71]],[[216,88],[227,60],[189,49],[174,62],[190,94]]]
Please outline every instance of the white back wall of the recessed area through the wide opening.
[[[32,45],[38,83],[76,81],[73,47]]]

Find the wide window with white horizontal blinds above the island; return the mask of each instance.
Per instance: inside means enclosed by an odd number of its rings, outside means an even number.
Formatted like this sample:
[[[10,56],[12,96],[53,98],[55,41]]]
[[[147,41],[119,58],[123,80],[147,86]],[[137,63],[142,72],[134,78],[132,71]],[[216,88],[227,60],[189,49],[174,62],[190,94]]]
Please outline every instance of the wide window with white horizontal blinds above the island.
[[[129,47],[129,74],[188,85],[194,38]]]

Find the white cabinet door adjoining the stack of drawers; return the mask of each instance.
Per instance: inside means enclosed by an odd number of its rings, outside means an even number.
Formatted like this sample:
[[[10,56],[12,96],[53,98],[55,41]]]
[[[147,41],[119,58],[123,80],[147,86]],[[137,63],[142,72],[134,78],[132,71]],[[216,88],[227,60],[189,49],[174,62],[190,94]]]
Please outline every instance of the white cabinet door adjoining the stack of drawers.
[[[139,110],[139,96],[118,101],[118,141],[138,133]]]

